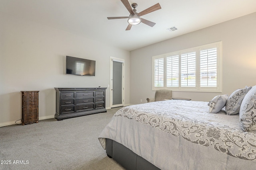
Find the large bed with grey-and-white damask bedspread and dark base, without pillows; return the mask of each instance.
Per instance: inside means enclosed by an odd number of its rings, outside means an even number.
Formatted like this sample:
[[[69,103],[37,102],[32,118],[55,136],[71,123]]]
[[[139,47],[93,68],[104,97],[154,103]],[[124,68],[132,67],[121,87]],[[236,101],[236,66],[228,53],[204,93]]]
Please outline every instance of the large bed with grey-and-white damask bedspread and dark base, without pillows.
[[[119,109],[99,141],[126,169],[254,169],[256,133],[209,102],[166,100]],[[146,168],[145,168],[146,167]]]

